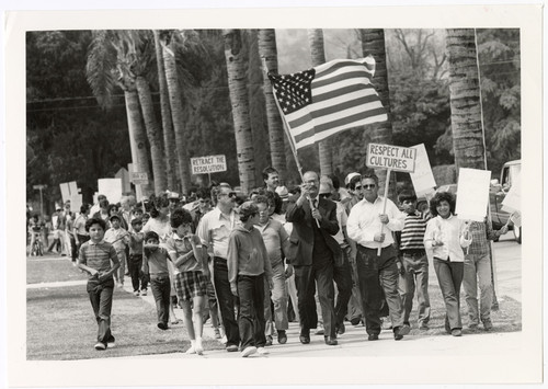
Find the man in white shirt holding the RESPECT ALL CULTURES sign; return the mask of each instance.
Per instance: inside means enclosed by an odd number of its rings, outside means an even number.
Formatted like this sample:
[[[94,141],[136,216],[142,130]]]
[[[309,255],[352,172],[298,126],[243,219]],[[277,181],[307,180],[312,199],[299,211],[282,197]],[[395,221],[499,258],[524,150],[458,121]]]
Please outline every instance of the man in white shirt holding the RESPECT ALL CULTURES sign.
[[[404,215],[389,198],[386,198],[384,210],[385,199],[378,196],[378,178],[373,171],[363,175],[362,191],[364,198],[352,208],[346,228],[349,237],[357,243],[356,267],[365,327],[368,340],[378,340],[384,290],[393,337],[399,341],[409,333],[409,327],[403,325],[396,264],[398,252],[393,247],[392,231],[401,231]]]

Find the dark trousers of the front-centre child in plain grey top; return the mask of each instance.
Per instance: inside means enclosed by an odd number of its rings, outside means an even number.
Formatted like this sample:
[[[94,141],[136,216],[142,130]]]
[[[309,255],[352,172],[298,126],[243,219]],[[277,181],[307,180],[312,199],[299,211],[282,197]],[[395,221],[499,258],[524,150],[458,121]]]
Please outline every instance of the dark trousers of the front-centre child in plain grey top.
[[[264,347],[264,276],[238,275],[238,297],[240,312],[238,327],[240,329],[241,348],[248,346]]]

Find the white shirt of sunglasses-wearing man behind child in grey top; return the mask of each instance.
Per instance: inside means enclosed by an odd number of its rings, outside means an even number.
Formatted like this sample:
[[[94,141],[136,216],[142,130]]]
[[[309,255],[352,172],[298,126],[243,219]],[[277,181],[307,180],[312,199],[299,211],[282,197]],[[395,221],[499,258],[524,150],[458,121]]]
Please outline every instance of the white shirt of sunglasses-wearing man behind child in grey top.
[[[213,248],[215,256],[227,259],[228,237],[230,231],[237,226],[236,211],[232,209],[230,216],[225,216],[218,207],[215,207],[202,217],[196,234],[202,240],[202,244],[208,249]]]

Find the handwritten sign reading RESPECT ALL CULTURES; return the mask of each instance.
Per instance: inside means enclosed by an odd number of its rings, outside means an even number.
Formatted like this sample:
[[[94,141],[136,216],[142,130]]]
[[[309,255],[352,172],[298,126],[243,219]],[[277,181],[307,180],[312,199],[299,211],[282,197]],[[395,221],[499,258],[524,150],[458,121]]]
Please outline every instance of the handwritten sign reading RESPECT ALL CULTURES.
[[[412,173],[415,169],[416,149],[409,147],[369,144],[366,164],[369,168],[389,169]]]

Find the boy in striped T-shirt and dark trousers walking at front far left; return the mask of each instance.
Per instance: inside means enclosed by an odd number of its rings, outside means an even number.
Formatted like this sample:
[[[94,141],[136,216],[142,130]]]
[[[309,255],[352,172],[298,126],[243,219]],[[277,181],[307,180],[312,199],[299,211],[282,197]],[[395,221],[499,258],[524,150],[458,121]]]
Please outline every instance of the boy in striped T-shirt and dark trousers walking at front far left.
[[[80,247],[78,267],[88,272],[87,290],[91,307],[98,321],[98,343],[95,350],[114,347],[114,336],[111,332],[112,295],[114,289],[113,274],[119,267],[118,256],[114,247],[105,242],[103,219],[91,218],[85,221],[85,231],[90,240]]]

